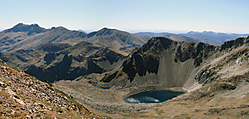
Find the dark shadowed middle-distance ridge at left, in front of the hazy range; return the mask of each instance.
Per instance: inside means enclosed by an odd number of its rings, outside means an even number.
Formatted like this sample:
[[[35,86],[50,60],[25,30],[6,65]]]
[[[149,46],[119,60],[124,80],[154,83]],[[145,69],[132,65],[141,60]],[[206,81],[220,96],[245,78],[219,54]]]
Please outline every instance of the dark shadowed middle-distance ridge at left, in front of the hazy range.
[[[40,80],[73,80],[90,73],[103,73],[118,67],[126,53],[82,41],[75,45],[47,43],[34,50],[1,54],[1,59]]]

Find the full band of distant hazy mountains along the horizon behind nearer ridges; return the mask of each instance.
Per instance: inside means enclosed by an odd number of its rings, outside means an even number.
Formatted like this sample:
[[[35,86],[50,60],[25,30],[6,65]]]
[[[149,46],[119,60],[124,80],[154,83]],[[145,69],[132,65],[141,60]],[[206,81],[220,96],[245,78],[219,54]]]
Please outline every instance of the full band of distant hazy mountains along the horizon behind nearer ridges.
[[[215,32],[188,32],[186,34],[139,32],[130,34],[117,29],[102,28],[98,31],[85,33],[82,31],[68,30],[64,27],[45,29],[38,24],[19,23],[13,28],[0,32],[0,51],[12,52],[18,49],[30,50],[46,43],[68,43],[75,45],[81,41],[88,41],[104,47],[130,53],[134,48],[141,47],[150,38],[165,36],[172,40],[189,42],[203,42],[221,45],[229,39],[246,37],[247,34],[226,34]],[[174,37],[173,37],[174,36]],[[186,37],[184,37],[186,36]],[[177,38],[176,38],[177,37]]]

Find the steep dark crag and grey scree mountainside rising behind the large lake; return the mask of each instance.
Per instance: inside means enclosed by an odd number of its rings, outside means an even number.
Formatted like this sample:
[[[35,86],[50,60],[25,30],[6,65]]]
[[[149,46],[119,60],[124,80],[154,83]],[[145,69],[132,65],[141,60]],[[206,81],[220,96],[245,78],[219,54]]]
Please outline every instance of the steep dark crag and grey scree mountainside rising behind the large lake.
[[[122,67],[104,77],[100,84],[119,88],[180,87],[191,91],[218,79],[246,73],[248,43],[249,37],[221,46],[152,38],[133,50]]]

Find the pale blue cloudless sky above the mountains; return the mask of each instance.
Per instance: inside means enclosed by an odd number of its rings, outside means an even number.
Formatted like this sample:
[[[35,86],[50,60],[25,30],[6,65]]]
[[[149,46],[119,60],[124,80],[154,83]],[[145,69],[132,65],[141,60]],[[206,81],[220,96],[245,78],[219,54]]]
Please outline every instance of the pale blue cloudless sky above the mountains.
[[[0,29],[17,23],[71,30],[249,33],[249,0],[0,0]]]

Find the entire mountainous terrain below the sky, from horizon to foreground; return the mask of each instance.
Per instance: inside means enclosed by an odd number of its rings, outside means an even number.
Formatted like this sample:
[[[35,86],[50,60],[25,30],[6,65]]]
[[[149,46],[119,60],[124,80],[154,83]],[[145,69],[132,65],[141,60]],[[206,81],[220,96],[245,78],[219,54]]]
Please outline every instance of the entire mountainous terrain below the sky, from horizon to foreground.
[[[0,32],[0,118],[248,118],[249,36],[146,34]]]

